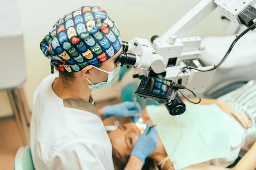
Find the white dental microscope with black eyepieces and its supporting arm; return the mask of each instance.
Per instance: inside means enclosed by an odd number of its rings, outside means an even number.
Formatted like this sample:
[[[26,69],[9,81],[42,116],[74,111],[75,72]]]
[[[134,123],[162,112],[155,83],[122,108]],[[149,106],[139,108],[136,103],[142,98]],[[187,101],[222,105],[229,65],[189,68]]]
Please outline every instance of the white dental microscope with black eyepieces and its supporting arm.
[[[123,42],[125,53],[117,61],[122,65],[146,70],[145,74],[137,75],[139,79],[143,76],[160,76],[191,89],[195,94],[203,94],[212,81],[215,69],[225,61],[236,42],[256,27],[255,5],[256,0],[201,0],[162,37],[151,38],[153,49],[147,40],[137,37]],[[249,28],[236,37],[217,65],[207,66],[200,59],[206,48],[201,46],[201,38],[184,36],[215,8],[238,26]],[[180,93],[184,97],[189,95],[184,90]]]

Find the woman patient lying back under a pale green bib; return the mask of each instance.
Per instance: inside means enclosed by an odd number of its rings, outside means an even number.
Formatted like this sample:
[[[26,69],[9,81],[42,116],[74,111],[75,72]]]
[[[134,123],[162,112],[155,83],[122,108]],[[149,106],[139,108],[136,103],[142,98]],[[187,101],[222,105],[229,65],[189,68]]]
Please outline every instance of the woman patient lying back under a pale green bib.
[[[180,116],[169,115],[163,106],[143,110],[144,123],[157,124],[159,133],[157,149],[148,160],[162,163],[164,170],[225,170],[239,154],[247,152],[234,169],[256,167],[256,128],[249,116],[217,99],[186,105],[186,112]],[[134,123],[108,133],[116,170],[124,169],[140,133]],[[149,164],[144,168],[149,169]]]

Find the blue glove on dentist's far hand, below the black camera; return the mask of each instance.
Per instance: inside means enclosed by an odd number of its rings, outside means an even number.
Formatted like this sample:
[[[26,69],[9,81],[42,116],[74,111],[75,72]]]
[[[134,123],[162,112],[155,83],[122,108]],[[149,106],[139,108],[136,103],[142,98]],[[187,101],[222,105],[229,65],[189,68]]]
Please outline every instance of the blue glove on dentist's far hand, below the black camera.
[[[136,109],[137,108],[137,109]],[[112,106],[105,106],[103,115],[106,118],[111,116],[115,117],[128,117],[128,116],[139,116],[141,115],[142,109],[139,103],[135,102],[122,102]]]

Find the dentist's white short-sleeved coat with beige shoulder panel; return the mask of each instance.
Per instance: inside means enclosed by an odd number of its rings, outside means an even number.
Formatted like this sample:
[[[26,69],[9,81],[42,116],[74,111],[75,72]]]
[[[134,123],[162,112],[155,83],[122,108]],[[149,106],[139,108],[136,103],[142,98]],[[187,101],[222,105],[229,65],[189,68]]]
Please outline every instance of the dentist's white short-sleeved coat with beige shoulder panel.
[[[36,170],[113,170],[112,146],[96,108],[89,102],[59,98],[56,75],[34,94],[30,147]],[[86,106],[86,107],[85,107]]]

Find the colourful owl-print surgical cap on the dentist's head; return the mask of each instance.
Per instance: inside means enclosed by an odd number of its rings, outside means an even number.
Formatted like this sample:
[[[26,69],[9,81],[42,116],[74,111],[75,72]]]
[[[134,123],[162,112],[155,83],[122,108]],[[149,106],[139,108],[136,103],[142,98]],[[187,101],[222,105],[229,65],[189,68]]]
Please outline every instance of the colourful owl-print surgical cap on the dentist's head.
[[[61,17],[40,43],[45,57],[61,72],[77,72],[98,65],[121,49],[121,35],[113,18],[99,6],[83,6]]]

